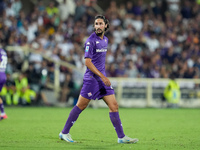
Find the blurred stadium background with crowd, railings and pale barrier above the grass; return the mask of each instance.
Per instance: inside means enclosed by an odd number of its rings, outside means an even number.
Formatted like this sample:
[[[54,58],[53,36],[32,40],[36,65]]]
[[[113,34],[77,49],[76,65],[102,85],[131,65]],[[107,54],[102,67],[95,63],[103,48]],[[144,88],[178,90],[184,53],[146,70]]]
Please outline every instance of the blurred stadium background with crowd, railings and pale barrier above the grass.
[[[84,42],[103,14],[110,21],[107,75],[121,107],[162,107],[172,74],[180,106],[200,107],[199,0],[0,0],[0,8],[9,83],[27,78],[37,95],[32,105],[74,105]]]

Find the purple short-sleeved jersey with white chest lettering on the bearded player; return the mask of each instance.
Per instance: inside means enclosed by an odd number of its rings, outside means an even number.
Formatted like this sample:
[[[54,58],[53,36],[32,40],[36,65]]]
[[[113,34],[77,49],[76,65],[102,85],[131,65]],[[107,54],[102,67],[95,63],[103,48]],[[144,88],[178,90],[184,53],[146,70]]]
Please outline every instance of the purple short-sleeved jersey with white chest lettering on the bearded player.
[[[108,46],[108,38],[106,36],[101,39],[96,33],[92,33],[90,37],[85,42],[85,58],[91,58],[94,66],[104,75],[105,73],[105,61],[106,52]],[[94,73],[87,68],[84,80],[95,76]],[[96,76],[97,77],[97,76]],[[99,77],[97,77],[98,79]],[[100,78],[99,78],[100,79]]]

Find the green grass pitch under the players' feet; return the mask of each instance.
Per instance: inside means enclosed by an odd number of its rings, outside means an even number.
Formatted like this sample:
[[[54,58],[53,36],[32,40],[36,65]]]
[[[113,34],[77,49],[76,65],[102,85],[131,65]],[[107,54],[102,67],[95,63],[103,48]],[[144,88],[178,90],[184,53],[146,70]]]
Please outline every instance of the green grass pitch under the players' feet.
[[[58,138],[72,108],[6,107],[1,150],[199,150],[200,109],[120,108],[124,132],[137,144],[118,144],[108,109],[87,108],[71,128],[78,143]]]

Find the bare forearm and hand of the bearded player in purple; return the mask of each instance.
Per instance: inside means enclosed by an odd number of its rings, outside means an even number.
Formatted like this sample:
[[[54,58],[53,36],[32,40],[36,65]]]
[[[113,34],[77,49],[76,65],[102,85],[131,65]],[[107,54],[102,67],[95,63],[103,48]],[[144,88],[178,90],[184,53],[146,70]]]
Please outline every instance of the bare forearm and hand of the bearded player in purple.
[[[91,58],[85,58],[85,65],[96,75],[98,75],[106,86],[111,86],[110,80],[105,77],[92,63]]]

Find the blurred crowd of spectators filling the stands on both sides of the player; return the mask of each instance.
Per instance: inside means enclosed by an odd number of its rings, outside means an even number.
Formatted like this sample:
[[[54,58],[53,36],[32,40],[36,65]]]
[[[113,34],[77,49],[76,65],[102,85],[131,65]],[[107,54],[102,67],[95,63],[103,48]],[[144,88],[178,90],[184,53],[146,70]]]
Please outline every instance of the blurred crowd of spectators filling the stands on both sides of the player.
[[[21,0],[0,1],[1,46],[25,46],[35,50],[28,58],[23,52],[8,51],[8,73],[23,69],[28,59],[35,72],[46,69],[54,81],[54,64],[41,54],[63,60],[84,70],[84,42],[93,32],[98,14],[95,0],[38,0],[29,13]],[[143,0],[118,4],[110,1],[104,11],[110,21],[106,70],[109,77],[199,78],[199,0]],[[6,48],[5,48],[6,49]],[[30,68],[30,67],[29,67]],[[32,69],[33,69],[32,68]],[[27,69],[29,71],[29,69]],[[60,67],[60,83],[73,70]],[[43,72],[44,73],[44,72]],[[38,83],[42,82],[38,77]],[[37,81],[34,81],[37,82]]]

